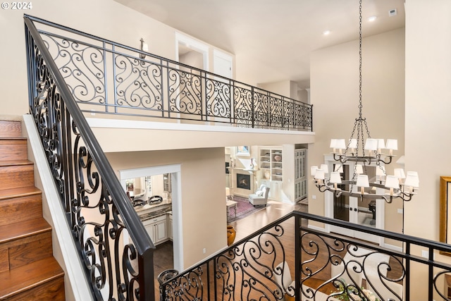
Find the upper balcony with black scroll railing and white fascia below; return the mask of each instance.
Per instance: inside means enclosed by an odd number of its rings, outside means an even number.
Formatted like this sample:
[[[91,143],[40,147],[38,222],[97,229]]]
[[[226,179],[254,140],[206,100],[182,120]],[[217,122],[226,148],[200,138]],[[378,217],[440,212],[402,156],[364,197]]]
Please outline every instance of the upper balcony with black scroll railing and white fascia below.
[[[314,142],[310,104],[35,22],[105,152]],[[145,139],[149,130],[153,141]]]

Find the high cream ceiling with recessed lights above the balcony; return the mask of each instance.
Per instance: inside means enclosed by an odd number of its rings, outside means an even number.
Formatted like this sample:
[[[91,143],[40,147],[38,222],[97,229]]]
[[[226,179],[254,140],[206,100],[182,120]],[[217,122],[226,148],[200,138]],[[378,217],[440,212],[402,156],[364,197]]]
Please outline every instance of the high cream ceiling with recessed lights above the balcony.
[[[359,37],[358,0],[115,1],[235,54],[255,82],[309,87],[310,52]],[[397,15],[389,16],[393,9]],[[378,18],[370,23],[370,16]],[[364,37],[404,27],[404,20],[404,0],[362,3]]]

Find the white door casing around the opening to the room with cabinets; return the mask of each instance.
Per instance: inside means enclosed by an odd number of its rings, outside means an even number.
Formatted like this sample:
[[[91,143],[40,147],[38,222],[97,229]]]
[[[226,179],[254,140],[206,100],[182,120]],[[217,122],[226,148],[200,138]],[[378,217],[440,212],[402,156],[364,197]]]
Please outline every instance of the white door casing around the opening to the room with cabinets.
[[[181,164],[150,166],[119,171],[119,180],[125,190],[125,180],[171,173],[173,256],[174,269],[184,271],[183,261],[183,219],[182,219],[182,166]]]

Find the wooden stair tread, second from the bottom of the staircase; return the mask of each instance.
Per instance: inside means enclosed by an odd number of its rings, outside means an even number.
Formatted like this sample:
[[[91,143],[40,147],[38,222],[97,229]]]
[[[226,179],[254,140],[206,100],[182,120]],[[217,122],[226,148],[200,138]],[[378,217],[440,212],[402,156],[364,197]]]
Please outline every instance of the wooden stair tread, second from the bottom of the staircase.
[[[0,226],[0,244],[11,240],[25,238],[37,233],[43,233],[45,231],[51,231],[51,226],[42,217],[20,221],[19,223],[10,223],[8,225]]]

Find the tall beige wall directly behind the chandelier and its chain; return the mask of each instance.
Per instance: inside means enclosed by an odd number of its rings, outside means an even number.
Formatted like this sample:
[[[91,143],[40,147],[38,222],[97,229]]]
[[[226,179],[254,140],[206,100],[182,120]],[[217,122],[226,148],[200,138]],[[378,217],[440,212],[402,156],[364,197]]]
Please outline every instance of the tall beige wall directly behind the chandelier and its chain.
[[[404,154],[404,29],[366,37],[362,42],[362,104],[371,137],[398,140]],[[316,141],[308,166],[324,162],[331,138],[349,139],[359,117],[359,44],[352,41],[311,54],[311,104]],[[397,164],[387,166],[388,173]],[[316,199],[313,199],[313,196]],[[385,207],[387,230],[402,230],[402,204]],[[324,215],[324,195],[309,181],[309,211]],[[319,225],[322,226],[322,225]]]

